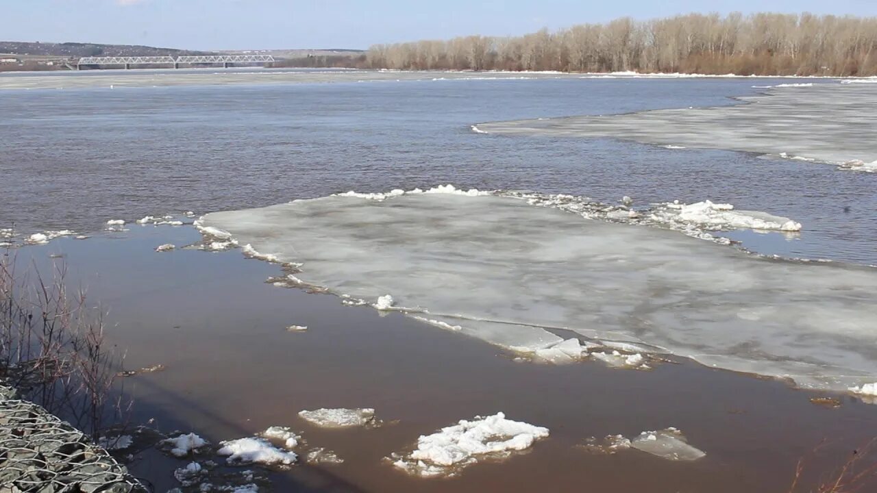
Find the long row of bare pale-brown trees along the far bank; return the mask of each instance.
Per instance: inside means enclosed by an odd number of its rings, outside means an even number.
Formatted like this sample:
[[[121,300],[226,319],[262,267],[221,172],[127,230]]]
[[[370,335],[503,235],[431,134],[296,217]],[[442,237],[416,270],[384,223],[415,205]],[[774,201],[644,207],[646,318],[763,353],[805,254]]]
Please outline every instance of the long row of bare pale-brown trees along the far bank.
[[[396,69],[877,75],[877,18],[688,14],[372,46],[367,66]]]

